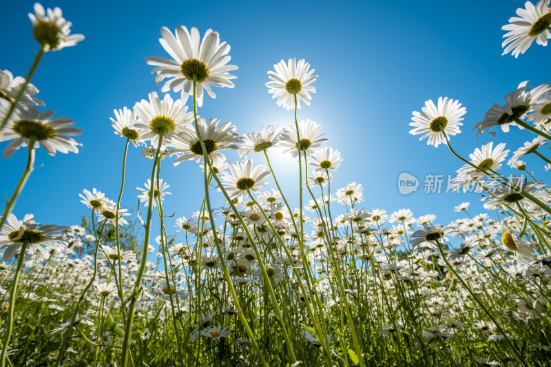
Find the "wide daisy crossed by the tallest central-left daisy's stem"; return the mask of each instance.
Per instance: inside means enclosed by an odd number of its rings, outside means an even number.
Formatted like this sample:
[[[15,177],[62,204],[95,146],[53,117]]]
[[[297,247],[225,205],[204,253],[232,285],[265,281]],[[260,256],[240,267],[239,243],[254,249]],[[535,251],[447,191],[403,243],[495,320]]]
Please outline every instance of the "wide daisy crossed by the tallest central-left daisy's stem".
[[[240,138],[236,134],[236,127],[229,121],[218,126],[219,118],[209,118],[205,123],[205,118],[198,118],[197,124],[202,140],[207,149],[207,155],[211,160],[226,160],[226,156],[220,153],[224,149],[237,149],[236,143]],[[174,140],[174,147],[170,151],[171,156],[176,155],[174,165],[179,165],[184,160],[203,161],[202,147],[199,137],[193,127],[185,129],[182,134]]]

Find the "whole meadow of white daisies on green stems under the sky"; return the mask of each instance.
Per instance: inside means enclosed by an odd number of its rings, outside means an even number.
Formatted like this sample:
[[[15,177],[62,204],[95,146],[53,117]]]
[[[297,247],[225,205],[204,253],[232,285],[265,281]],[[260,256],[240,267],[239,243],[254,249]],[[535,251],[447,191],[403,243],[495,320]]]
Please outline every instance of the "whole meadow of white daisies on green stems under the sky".
[[[503,54],[547,45],[549,5],[517,10],[503,26]],[[457,154],[459,101],[440,97],[413,112],[410,134],[456,156],[463,166],[453,189],[475,187],[488,210],[471,213],[464,202],[444,227],[409,209],[364,207],[360,183],[332,187],[343,157],[307,118],[318,76],[304,59],[276,63],[266,83],[294,124],[242,134],[200,116],[204,98],[233,87],[228,43],[213,30],[162,28],[167,54],[146,59],[162,93],[111,116],[125,143],[120,193],[83,188],[87,219],[43,225],[12,213],[33,179],[35,151],[78,153],[71,136],[85,132],[39,109],[30,81],[48,52],[84,36],[71,34],[59,8],[37,3],[29,17],[39,45],[32,67],[25,78],[0,70],[3,158],[28,152],[1,208],[0,367],[550,364],[551,191],[522,158],[551,169],[551,83],[521,83],[475,126],[478,134],[530,131],[512,153],[497,140]],[[299,167],[296,202],[271,167],[274,147]],[[240,160],[227,161],[231,150]],[[138,151],[151,174],[130,213],[121,202],[125,163]],[[204,173],[202,205],[167,215],[160,169],[184,161]]]

